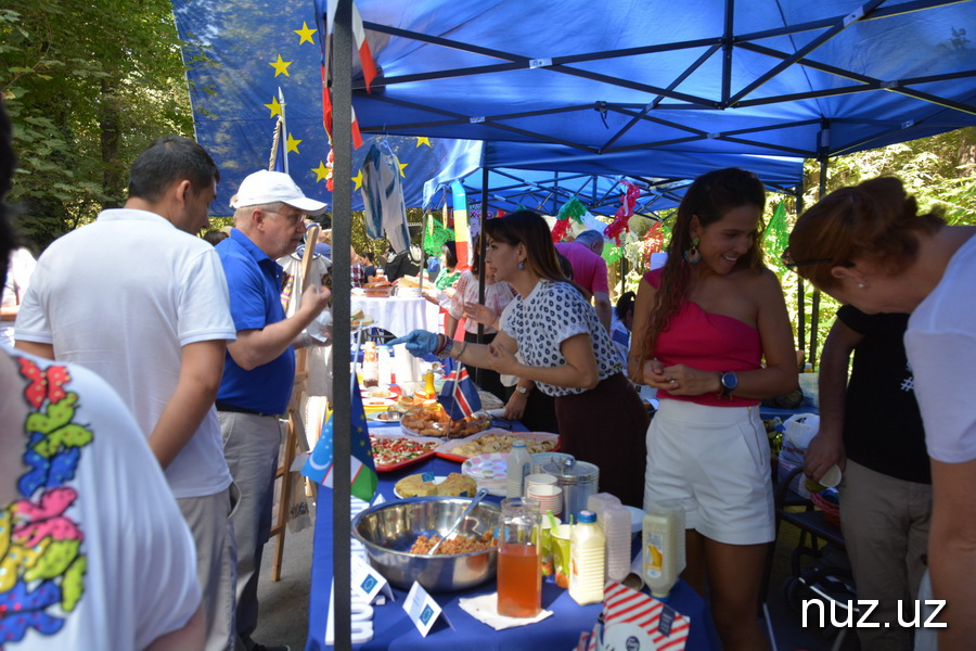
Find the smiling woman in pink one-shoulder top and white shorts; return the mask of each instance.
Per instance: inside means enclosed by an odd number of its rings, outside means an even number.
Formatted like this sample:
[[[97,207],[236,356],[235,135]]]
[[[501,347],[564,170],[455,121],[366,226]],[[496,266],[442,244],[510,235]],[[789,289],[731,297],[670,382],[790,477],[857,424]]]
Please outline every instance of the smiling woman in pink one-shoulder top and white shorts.
[[[682,578],[704,596],[707,567],[727,650],[767,648],[756,603],[774,520],[759,401],[797,385],[786,304],[759,245],[765,200],[761,181],[742,169],[695,180],[667,263],[641,281],[628,360],[631,379],[660,398],[644,507],[684,507]]]

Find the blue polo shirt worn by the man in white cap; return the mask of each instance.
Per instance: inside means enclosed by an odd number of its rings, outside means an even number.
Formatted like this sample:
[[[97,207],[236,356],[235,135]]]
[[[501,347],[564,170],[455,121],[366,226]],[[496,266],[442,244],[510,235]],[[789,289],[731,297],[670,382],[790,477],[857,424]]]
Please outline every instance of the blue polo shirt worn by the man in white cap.
[[[237,229],[217,245],[230,291],[234,329],[260,330],[283,321],[281,265]],[[217,400],[260,413],[284,413],[295,383],[295,350],[291,346],[275,359],[245,371],[227,353]]]

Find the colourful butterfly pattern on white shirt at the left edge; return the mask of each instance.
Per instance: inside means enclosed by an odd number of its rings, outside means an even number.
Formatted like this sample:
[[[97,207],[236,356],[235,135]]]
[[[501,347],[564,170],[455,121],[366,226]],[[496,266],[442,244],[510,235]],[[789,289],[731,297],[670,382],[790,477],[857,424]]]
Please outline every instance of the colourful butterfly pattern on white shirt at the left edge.
[[[92,433],[73,422],[78,394],[65,391],[65,367],[42,370],[15,359],[29,381],[23,459],[30,470],[17,481],[22,499],[0,512],[0,648],[22,640],[28,628],[61,630],[85,591],[87,566],[85,535],[66,512],[78,497],[68,483]]]

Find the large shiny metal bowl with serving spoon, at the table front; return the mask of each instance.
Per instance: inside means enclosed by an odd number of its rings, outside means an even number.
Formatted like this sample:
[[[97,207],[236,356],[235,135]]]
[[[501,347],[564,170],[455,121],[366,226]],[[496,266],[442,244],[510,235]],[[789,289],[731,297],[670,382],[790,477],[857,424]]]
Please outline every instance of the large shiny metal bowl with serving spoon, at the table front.
[[[465,590],[495,576],[498,548],[458,554],[410,553],[420,535],[444,535],[471,503],[463,497],[411,497],[370,507],[352,520],[352,535],[362,542],[370,563],[391,585],[409,590],[414,580],[429,591]],[[458,527],[480,537],[501,519],[501,509],[481,502]]]

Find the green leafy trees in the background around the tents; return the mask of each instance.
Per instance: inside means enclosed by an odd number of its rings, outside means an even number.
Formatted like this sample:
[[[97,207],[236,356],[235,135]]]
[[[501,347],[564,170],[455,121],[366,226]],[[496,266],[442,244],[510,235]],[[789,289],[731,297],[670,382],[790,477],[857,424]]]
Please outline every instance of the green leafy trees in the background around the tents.
[[[169,0],[4,2],[0,92],[20,154],[9,200],[21,205],[17,226],[35,253],[91,221],[103,208],[120,205],[129,164],[154,138],[193,136],[185,65],[210,65],[206,50],[201,52],[183,63]],[[938,205],[950,222],[974,224],[976,129],[832,158],[827,174],[827,191],[882,174],[898,175],[923,207]],[[816,202],[819,183],[820,165],[810,161],[805,205]],[[783,201],[787,227],[792,227],[795,200]],[[776,203],[771,196],[767,222]],[[658,217],[666,220],[669,215]],[[409,219],[420,222],[422,213],[410,210]],[[608,255],[616,292],[637,286],[640,275],[633,269],[642,268],[647,248],[641,238],[653,224],[642,217],[632,219],[634,232],[624,251]],[[352,242],[360,252],[378,254],[386,248],[385,242],[365,237],[361,216],[354,219]],[[769,251],[770,266],[781,277],[796,323],[796,277],[779,266],[779,253]],[[629,271],[621,275],[621,267]],[[805,293],[809,306],[809,284]],[[821,298],[821,342],[836,308],[830,297]],[[808,308],[807,329],[809,321]]]

